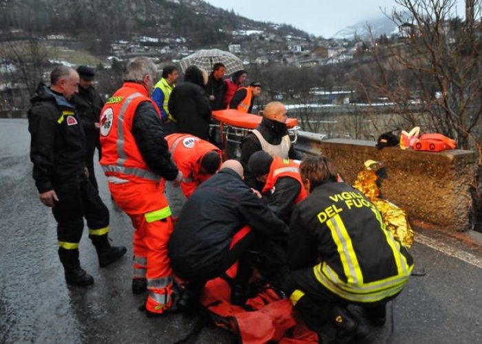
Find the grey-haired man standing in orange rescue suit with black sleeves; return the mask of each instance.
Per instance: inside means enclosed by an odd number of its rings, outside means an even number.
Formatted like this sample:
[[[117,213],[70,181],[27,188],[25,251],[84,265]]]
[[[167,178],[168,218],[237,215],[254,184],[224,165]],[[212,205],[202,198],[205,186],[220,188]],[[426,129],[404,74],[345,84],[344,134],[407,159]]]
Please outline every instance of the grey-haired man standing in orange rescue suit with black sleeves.
[[[180,173],[171,160],[158,108],[149,94],[156,65],[146,57],[127,63],[124,84],[107,100],[101,114],[101,165],[114,201],[134,226],[132,291],[149,291],[148,316],[172,305],[172,272],[167,241],[173,229],[171,209],[160,178],[179,185]]]

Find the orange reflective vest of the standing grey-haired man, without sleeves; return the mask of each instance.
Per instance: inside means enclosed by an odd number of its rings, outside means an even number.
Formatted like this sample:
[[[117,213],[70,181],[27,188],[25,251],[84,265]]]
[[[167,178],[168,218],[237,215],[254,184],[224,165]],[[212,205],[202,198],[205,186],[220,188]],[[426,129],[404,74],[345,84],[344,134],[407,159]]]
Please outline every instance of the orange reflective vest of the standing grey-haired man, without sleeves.
[[[160,181],[160,176],[145,163],[131,131],[136,108],[145,101],[158,111],[143,85],[124,83],[105,103],[100,121],[101,165],[105,175],[133,182]]]

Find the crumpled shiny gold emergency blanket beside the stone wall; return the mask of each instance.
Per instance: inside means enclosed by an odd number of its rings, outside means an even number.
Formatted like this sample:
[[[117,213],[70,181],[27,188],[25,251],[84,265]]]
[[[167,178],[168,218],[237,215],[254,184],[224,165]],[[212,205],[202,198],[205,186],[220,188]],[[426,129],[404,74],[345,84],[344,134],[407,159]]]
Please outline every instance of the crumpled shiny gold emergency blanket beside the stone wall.
[[[395,204],[379,198],[380,191],[377,186],[376,171],[381,167],[380,162],[366,160],[364,168],[359,171],[353,187],[362,191],[380,211],[386,228],[390,230],[395,239],[410,248],[413,244],[413,230],[408,222],[407,212]]]

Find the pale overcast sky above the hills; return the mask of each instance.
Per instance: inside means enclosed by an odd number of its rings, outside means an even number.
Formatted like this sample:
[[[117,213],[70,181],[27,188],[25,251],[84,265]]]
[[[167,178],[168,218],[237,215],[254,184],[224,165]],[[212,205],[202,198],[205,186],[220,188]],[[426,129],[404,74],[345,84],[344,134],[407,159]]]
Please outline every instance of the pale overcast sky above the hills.
[[[243,17],[273,23],[289,23],[317,36],[329,38],[347,25],[380,17],[394,0],[206,0],[213,6],[233,9]],[[464,1],[457,1],[463,16]]]

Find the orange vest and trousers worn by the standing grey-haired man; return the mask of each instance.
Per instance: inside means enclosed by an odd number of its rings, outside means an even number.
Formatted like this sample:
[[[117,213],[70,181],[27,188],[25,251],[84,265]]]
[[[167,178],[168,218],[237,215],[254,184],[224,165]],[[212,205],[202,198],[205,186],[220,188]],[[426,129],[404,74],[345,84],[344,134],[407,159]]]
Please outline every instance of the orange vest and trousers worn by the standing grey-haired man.
[[[135,228],[133,278],[147,279],[146,308],[162,313],[172,304],[167,242],[173,222],[160,189],[160,176],[147,166],[131,131],[136,109],[146,101],[158,111],[145,87],[137,83],[124,83],[107,100],[100,120],[101,165],[114,201],[129,215]]]

